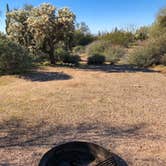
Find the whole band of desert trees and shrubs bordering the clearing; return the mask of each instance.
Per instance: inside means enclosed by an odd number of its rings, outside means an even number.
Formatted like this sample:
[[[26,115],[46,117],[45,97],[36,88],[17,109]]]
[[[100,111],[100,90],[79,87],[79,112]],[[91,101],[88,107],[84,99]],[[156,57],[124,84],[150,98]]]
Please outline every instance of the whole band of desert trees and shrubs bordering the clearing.
[[[166,65],[166,8],[151,26],[135,31],[115,28],[93,35],[86,23],[75,24],[68,8],[50,4],[6,6],[6,35],[0,35],[0,71],[19,73],[32,63],[78,65],[128,63],[139,67]],[[125,61],[123,61],[125,59]]]

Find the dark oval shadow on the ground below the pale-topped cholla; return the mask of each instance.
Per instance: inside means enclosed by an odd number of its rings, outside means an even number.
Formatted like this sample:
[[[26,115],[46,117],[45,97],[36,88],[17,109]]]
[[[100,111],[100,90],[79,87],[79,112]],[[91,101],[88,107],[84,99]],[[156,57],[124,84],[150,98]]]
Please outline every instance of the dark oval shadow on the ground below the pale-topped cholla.
[[[65,74],[63,72],[44,72],[44,71],[33,71],[30,73],[19,75],[18,77],[21,79],[30,80],[34,82],[69,80],[72,78],[70,75]]]

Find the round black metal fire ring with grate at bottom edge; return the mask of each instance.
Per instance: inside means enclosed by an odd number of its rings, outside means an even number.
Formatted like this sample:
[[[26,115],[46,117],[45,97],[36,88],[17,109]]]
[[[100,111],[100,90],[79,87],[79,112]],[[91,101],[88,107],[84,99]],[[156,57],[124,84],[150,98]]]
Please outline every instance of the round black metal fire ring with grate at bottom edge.
[[[87,142],[69,142],[48,151],[39,166],[127,166],[119,156]]]

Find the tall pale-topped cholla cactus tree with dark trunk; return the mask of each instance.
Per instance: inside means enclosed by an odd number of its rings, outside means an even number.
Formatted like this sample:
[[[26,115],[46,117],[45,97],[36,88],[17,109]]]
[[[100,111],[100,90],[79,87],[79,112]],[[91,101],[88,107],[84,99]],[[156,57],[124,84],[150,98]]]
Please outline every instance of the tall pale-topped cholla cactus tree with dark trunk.
[[[57,9],[44,3],[39,7],[13,10],[7,13],[7,34],[30,50],[47,53],[55,64],[54,50],[61,42],[66,49],[74,33],[75,15],[68,8]]]

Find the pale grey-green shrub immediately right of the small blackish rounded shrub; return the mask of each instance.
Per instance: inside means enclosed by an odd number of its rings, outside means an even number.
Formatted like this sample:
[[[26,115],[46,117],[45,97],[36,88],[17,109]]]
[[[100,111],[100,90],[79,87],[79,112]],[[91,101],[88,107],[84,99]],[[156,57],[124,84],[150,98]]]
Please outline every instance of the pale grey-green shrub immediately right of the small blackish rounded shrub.
[[[109,47],[105,50],[106,61],[115,64],[123,57],[124,53],[124,49],[120,46]]]

